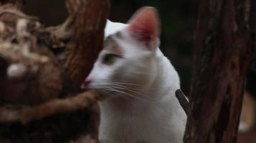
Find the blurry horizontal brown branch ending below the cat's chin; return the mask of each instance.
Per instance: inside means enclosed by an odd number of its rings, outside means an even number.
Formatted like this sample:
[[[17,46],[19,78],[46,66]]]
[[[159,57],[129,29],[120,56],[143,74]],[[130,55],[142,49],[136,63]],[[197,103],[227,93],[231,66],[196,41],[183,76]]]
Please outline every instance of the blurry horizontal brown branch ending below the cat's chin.
[[[43,119],[55,114],[76,112],[79,109],[91,107],[93,104],[96,104],[95,96],[88,92],[66,99],[52,99],[49,102],[32,107],[24,105],[19,108],[5,106],[0,108],[0,123],[22,122],[22,124],[28,124],[33,120]]]

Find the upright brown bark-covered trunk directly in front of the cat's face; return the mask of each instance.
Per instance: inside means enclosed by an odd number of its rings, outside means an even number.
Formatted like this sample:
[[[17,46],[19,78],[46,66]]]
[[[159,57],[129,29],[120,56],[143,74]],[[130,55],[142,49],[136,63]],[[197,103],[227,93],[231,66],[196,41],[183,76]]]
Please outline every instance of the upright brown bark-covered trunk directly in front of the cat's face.
[[[66,5],[73,24],[73,35],[66,50],[65,69],[70,79],[80,87],[91,71],[102,49],[109,0],[67,0]],[[86,17],[86,19],[81,19]]]

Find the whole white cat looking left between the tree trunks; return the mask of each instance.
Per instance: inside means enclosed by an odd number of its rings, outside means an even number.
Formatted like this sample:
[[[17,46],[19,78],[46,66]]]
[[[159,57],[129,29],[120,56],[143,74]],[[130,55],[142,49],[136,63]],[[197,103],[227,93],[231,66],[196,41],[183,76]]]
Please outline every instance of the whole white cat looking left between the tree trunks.
[[[180,143],[186,114],[175,97],[180,79],[158,48],[160,21],[151,7],[129,24],[107,21],[104,49],[84,86],[100,102],[101,143]]]

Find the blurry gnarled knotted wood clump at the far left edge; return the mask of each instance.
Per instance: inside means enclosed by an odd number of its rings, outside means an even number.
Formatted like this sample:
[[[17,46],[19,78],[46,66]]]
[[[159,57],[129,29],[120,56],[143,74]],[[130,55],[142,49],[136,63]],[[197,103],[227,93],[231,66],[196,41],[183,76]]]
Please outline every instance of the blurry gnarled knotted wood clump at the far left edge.
[[[6,63],[0,69],[6,73],[0,80],[0,99],[37,104],[58,97],[62,89],[60,66],[47,46],[37,44],[33,31],[41,29],[40,24],[12,7],[1,7],[1,11],[12,13],[0,16],[0,57]]]

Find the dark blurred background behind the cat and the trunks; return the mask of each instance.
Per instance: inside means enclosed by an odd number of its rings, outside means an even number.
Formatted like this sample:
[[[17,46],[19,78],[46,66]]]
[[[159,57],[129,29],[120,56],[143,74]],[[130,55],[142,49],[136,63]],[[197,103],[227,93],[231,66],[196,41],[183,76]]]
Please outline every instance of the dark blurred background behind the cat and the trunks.
[[[181,87],[189,94],[191,84],[193,29],[198,10],[197,0],[111,0],[111,21],[126,23],[130,16],[142,6],[154,6],[158,9],[162,21],[160,49],[172,62],[180,74]],[[40,17],[45,26],[58,25],[65,21],[67,11],[63,0],[27,0],[24,8],[27,14]],[[250,69],[247,77],[247,95],[244,100],[242,120],[246,125],[239,134],[239,143],[256,142],[255,130],[255,71]]]

